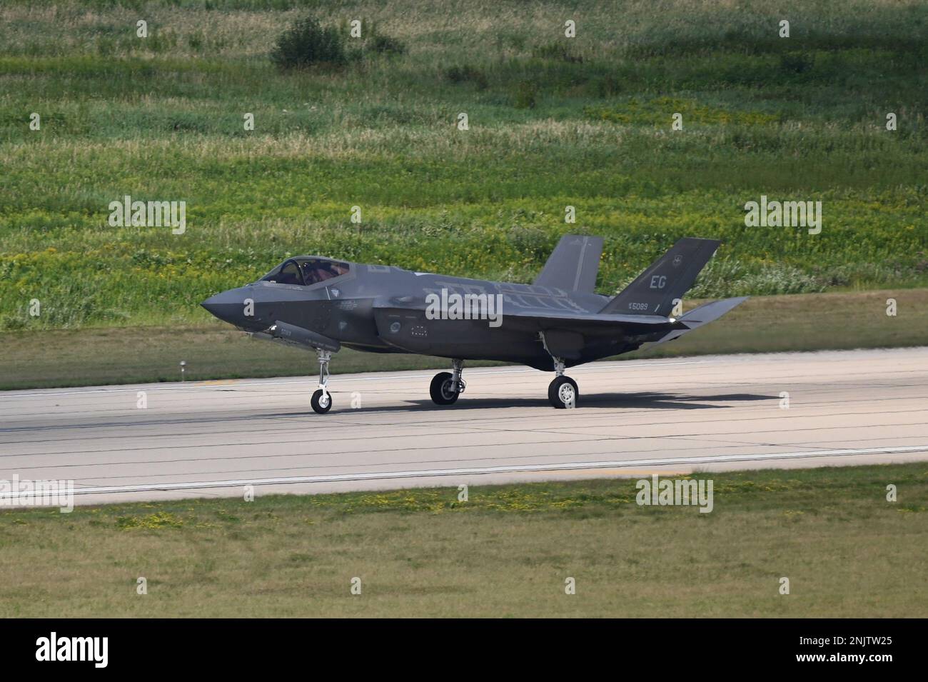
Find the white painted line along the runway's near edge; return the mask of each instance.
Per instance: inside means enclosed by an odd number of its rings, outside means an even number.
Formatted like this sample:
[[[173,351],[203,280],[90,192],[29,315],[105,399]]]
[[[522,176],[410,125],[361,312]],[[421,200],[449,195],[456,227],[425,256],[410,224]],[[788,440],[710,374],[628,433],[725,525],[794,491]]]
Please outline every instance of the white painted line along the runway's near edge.
[[[847,455],[892,455],[896,453],[928,453],[928,445],[907,447],[868,447],[844,450],[808,450],[805,452],[754,453],[751,455],[715,455],[708,457],[665,457],[660,459],[624,459],[599,462],[561,462],[559,464],[515,464],[500,467],[462,469],[426,469],[412,471],[372,471],[368,473],[336,473],[321,476],[287,476],[269,479],[238,479],[233,481],[190,481],[184,483],[148,483],[138,485],[107,485],[75,488],[74,495],[106,495],[110,493],[143,493],[148,491],[196,490],[200,488],[233,488],[243,485],[286,485],[293,483],[340,483],[379,481],[388,479],[430,478],[432,476],[478,476],[494,473],[531,471],[563,471],[574,469],[621,469],[625,467],[657,467],[671,464],[710,464],[720,462],[753,462],[768,459],[802,459],[807,457],[841,457]],[[10,493],[0,493],[5,499]]]

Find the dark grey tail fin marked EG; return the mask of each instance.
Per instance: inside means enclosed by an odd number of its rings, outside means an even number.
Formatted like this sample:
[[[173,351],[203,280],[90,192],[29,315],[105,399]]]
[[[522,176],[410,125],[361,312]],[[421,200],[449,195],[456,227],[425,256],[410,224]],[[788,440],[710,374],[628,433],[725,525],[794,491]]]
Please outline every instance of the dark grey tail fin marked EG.
[[[670,315],[674,300],[690,290],[721,243],[715,239],[680,239],[599,312]]]

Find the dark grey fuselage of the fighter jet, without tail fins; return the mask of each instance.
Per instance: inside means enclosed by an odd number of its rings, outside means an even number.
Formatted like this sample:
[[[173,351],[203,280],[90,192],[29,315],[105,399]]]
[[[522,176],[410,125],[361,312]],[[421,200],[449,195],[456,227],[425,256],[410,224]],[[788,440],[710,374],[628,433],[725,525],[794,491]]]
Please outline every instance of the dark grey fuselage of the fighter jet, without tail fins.
[[[551,356],[537,330],[507,324],[509,314],[590,314],[608,297],[531,284],[417,273],[389,265],[349,264],[340,277],[311,285],[259,280],[203,303],[213,315],[251,332],[277,322],[308,329],[358,351],[415,353],[466,360],[501,360],[551,370]],[[435,302],[499,302],[498,319],[470,319],[455,310],[430,318]],[[430,311],[430,305],[432,310]],[[465,314],[470,310],[465,310]],[[587,343],[568,366],[637,348],[642,341],[608,335]]]

